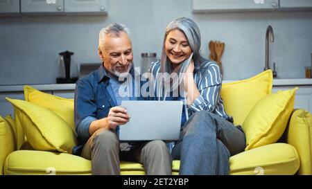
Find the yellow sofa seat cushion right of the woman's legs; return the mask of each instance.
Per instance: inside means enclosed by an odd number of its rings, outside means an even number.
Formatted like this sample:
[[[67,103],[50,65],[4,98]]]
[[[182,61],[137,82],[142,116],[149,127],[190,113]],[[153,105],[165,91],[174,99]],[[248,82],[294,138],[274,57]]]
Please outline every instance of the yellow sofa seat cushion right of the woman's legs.
[[[295,147],[274,143],[230,157],[230,174],[295,174],[300,158]]]

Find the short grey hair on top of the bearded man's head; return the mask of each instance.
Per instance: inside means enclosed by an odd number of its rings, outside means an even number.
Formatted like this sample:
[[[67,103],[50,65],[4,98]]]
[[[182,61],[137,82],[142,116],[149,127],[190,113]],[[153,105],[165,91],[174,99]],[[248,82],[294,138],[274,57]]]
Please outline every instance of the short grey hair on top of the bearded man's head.
[[[107,34],[112,34],[116,37],[119,37],[121,32],[128,34],[128,36],[130,37],[129,28],[125,27],[125,25],[123,24],[113,23],[106,26],[105,28],[102,28],[100,34],[98,35],[98,46],[99,47],[103,46],[104,39]]]

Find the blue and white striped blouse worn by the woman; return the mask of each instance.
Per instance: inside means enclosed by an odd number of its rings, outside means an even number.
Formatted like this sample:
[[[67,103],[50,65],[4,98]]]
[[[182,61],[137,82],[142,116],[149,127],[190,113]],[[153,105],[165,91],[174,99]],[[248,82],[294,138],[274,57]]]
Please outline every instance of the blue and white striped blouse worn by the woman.
[[[158,73],[161,73],[160,61],[150,63],[148,72],[153,73],[153,76],[157,78]],[[207,110],[233,123],[232,116],[225,113],[223,100],[220,97],[222,75],[218,64],[209,60],[202,62],[195,68],[194,80],[200,96],[193,101],[191,107],[187,107],[188,116],[196,111]],[[156,82],[153,87],[154,91],[157,91]]]

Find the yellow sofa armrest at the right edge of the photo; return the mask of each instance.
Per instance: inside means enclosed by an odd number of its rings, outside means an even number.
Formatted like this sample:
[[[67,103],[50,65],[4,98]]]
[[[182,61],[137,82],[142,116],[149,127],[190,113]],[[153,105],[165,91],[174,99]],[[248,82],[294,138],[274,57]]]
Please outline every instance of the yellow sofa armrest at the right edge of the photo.
[[[300,156],[299,174],[312,174],[312,115],[304,109],[293,111],[286,131],[286,142]]]

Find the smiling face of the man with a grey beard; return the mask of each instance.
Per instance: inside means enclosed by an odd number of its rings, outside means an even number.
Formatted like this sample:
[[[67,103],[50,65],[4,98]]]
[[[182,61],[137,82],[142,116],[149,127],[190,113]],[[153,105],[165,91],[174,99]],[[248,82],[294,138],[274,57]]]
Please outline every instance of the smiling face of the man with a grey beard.
[[[119,37],[107,34],[104,45],[98,47],[98,55],[104,62],[105,69],[120,76],[128,73],[132,66],[132,44],[127,33],[121,32]]]

